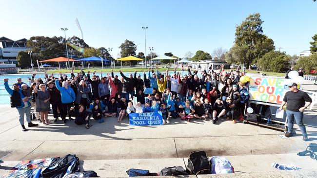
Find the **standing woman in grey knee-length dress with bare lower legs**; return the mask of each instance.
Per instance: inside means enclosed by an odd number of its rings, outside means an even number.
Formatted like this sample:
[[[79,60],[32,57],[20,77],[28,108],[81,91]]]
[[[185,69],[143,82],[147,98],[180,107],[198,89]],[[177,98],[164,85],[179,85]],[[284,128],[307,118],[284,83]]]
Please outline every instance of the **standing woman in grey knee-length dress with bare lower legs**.
[[[38,87],[40,88],[39,90]],[[48,112],[51,110],[50,93],[46,90],[45,85],[40,84],[40,82],[36,83],[34,93],[36,93],[36,111],[40,112],[40,120],[44,125],[49,125],[50,123],[48,122]]]

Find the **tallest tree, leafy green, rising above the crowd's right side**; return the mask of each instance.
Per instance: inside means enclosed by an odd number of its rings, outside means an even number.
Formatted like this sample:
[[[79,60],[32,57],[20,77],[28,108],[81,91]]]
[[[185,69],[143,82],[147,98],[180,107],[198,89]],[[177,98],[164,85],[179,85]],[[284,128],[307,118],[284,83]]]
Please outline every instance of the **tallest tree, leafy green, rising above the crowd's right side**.
[[[275,49],[274,41],[262,34],[262,23],[260,14],[255,13],[249,15],[236,27],[235,44],[248,48],[243,58],[246,59],[246,65],[249,66],[249,69],[251,69],[254,59],[259,59],[265,53]]]

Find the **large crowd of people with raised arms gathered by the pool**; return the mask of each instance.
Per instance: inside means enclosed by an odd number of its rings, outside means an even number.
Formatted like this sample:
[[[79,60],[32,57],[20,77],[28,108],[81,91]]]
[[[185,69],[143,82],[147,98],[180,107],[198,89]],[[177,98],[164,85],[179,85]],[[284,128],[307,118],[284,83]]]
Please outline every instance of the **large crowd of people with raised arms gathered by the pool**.
[[[106,76],[96,71],[80,71],[71,76],[59,73],[59,77],[45,73],[44,80],[33,74],[29,82],[20,78],[11,89],[4,79],[4,86],[11,95],[11,107],[16,107],[20,115],[22,130],[24,115],[28,126],[36,126],[32,119],[49,125],[48,113],[53,112],[54,122],[66,116],[77,125],[91,126],[90,119],[104,122],[105,117],[116,117],[118,122],[130,113],[161,112],[163,124],[169,124],[170,118],[190,121],[193,118],[211,119],[214,124],[218,118],[227,117],[236,123],[243,119],[245,104],[249,93],[245,83],[239,82],[243,72],[224,70],[204,70],[198,77],[198,71],[181,75],[176,71],[161,73],[149,68],[143,76],[134,74],[120,76],[113,71]],[[146,76],[146,74],[148,74]],[[31,107],[34,113],[31,114]]]

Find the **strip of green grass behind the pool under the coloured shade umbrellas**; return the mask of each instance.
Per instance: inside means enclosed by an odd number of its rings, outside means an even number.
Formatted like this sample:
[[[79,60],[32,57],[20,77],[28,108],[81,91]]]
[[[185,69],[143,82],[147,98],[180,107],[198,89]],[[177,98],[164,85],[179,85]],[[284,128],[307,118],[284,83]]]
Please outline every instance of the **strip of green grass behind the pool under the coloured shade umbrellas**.
[[[159,71],[166,71],[167,69],[169,68],[158,68]],[[122,72],[134,72],[134,71],[148,71],[149,69],[142,69],[142,68],[129,68],[129,67],[126,67],[126,68],[116,68],[114,69],[113,71],[114,72],[119,72],[119,71],[122,71]],[[154,68],[154,71],[156,69]],[[180,71],[180,69],[176,69],[177,71]],[[75,69],[74,70],[74,73],[78,73],[80,70],[77,70]],[[90,71],[90,72],[111,72],[111,69],[95,69],[95,68],[91,68],[91,69],[84,69],[83,71],[87,72],[87,71]],[[174,71],[174,68],[170,68],[169,71]],[[62,70],[51,70],[51,71],[46,71],[46,73],[68,73],[70,72],[70,70],[66,70],[66,69],[62,69]]]

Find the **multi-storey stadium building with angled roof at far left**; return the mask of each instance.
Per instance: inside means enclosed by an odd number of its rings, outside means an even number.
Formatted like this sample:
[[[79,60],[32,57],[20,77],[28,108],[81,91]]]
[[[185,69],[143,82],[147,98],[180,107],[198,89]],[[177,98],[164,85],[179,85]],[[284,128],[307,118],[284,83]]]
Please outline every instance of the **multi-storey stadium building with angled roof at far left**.
[[[17,63],[17,55],[20,51],[26,51],[27,39],[12,40],[7,37],[0,37],[0,62]]]

